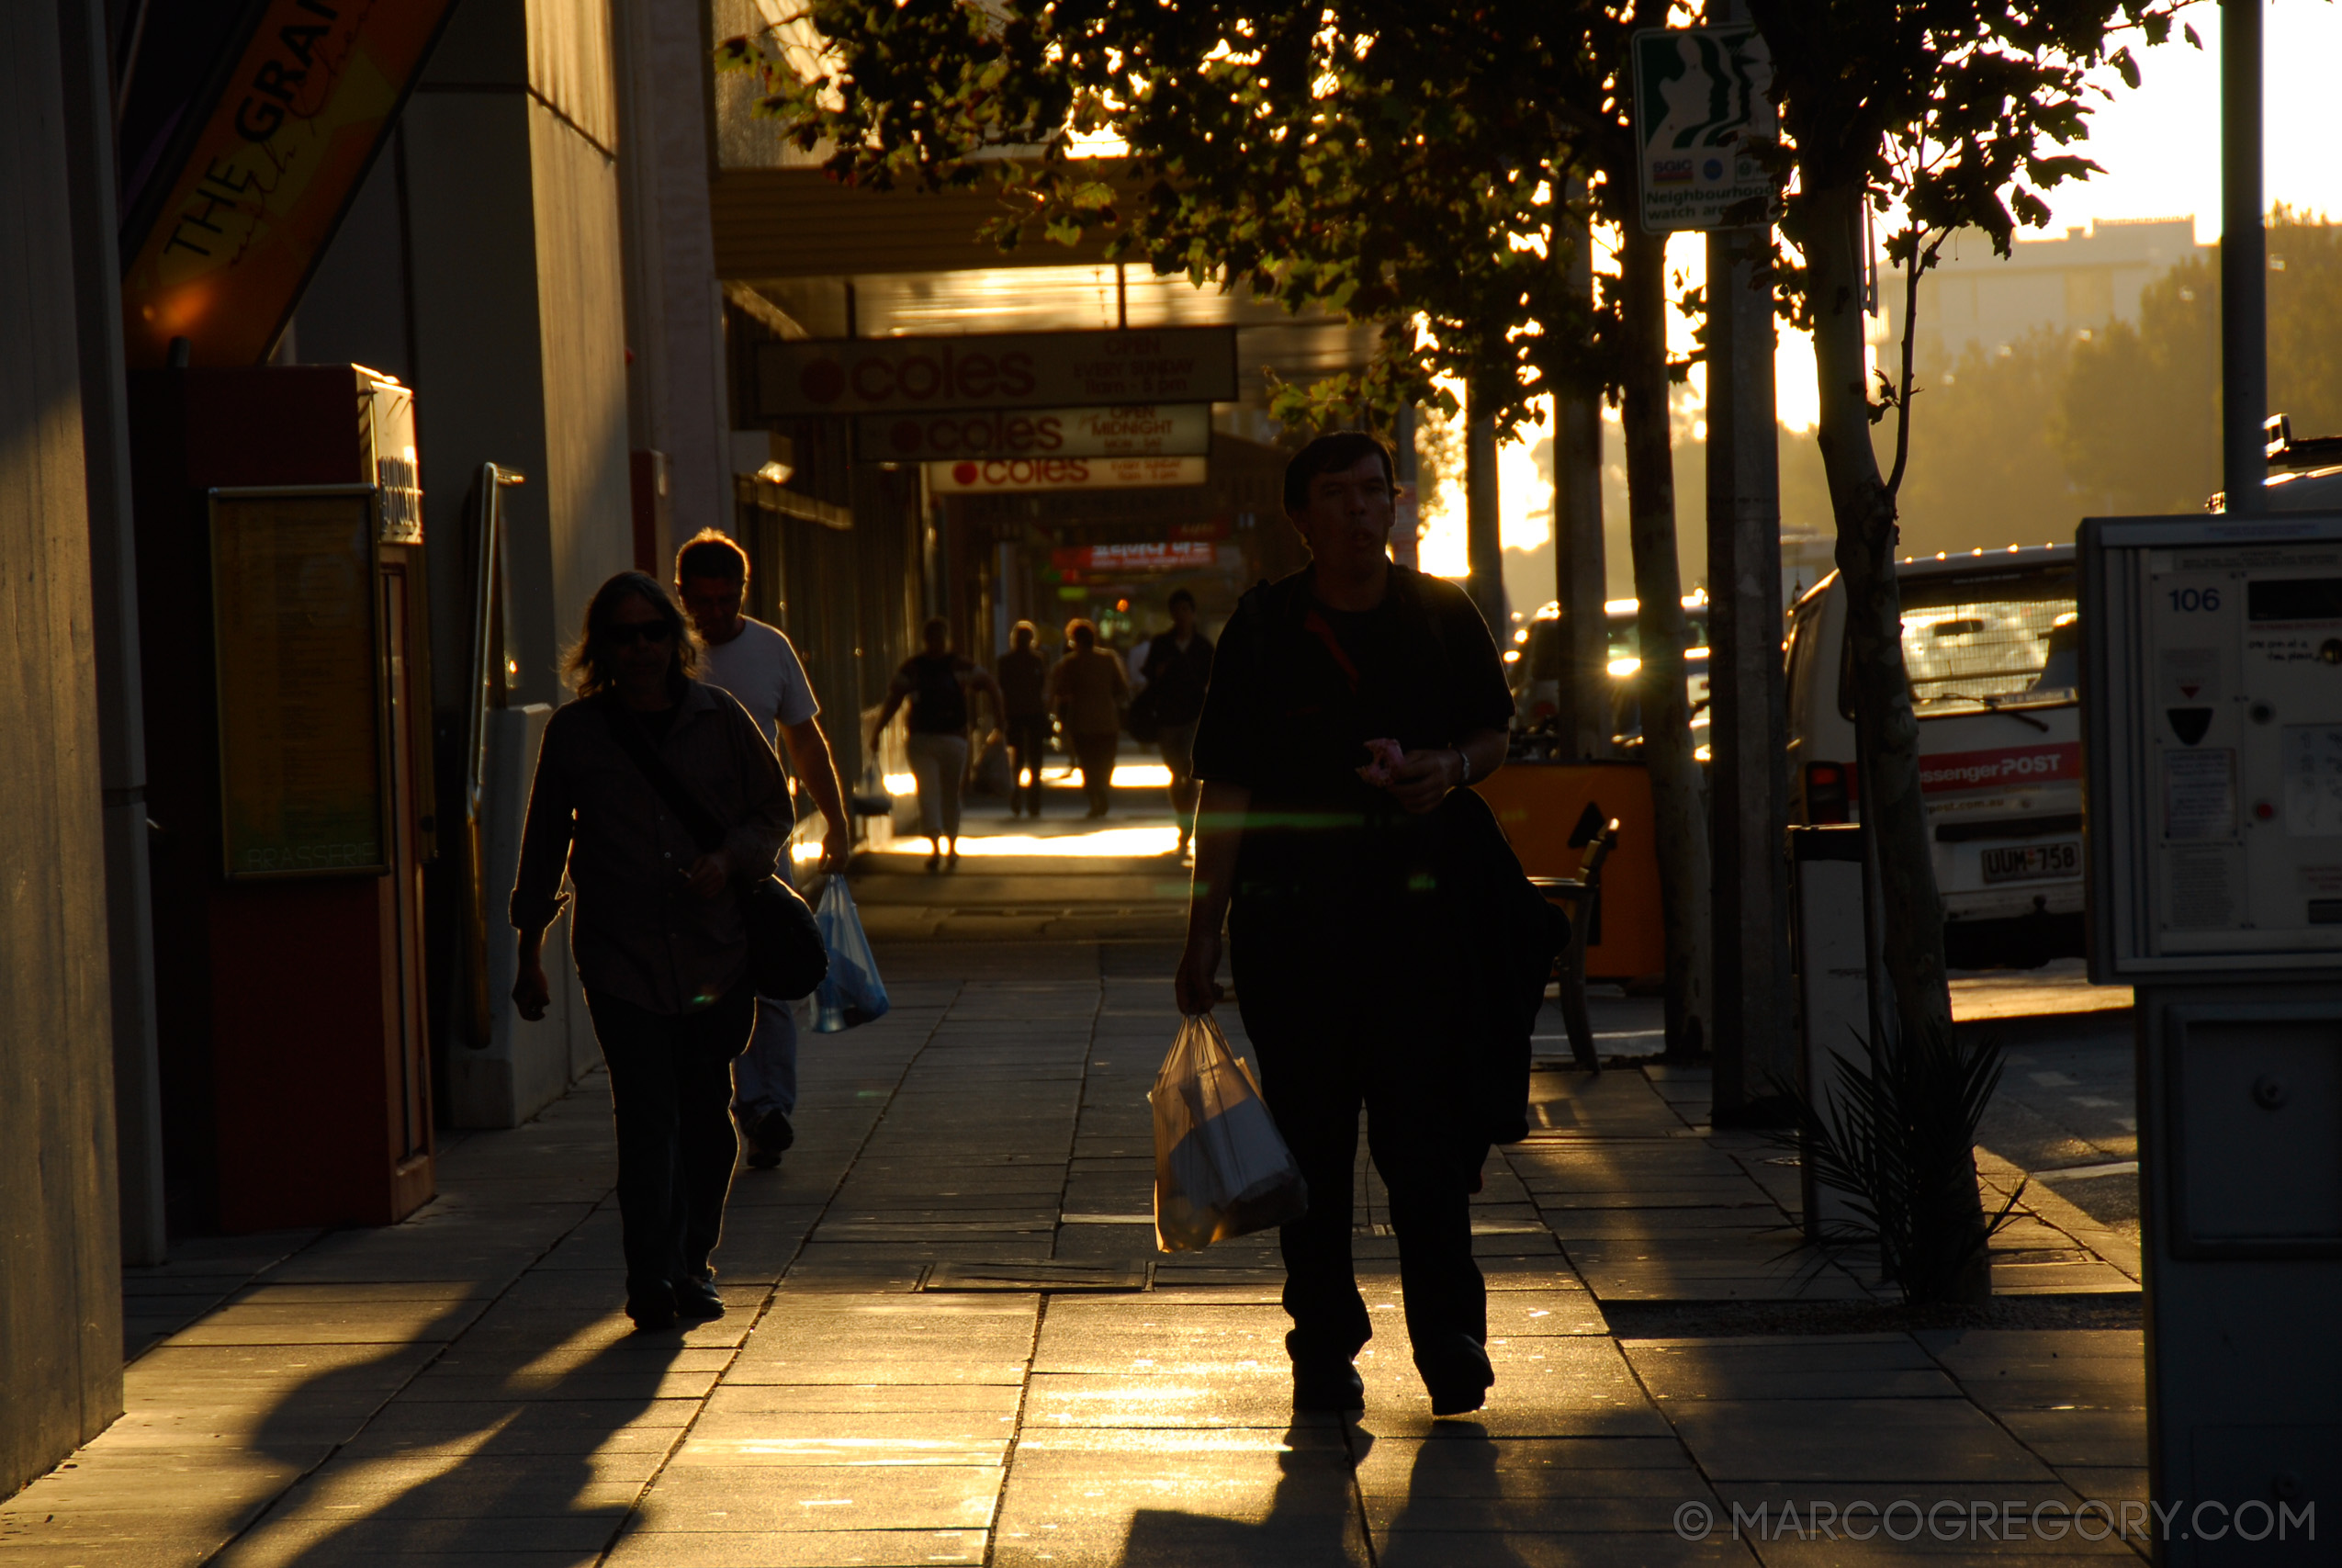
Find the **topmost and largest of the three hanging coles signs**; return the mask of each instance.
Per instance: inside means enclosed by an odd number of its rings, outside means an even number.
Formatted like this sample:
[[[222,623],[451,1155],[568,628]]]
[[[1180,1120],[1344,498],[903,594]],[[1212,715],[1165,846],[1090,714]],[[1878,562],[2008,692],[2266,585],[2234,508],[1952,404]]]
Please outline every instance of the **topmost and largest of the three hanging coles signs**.
[[[1232,403],[1237,330],[998,333],[766,342],[756,401],[768,420],[920,415],[956,408]]]

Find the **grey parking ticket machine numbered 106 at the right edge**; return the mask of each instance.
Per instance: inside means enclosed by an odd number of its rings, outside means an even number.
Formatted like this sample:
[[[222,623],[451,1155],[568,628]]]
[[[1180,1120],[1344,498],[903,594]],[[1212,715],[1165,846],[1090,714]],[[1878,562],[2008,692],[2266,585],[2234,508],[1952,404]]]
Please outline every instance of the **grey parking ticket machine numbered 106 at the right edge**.
[[[2080,558],[2089,973],[2138,994],[2150,1493],[2185,1505],[2159,1561],[2335,1561],[2342,516],[2091,518]]]

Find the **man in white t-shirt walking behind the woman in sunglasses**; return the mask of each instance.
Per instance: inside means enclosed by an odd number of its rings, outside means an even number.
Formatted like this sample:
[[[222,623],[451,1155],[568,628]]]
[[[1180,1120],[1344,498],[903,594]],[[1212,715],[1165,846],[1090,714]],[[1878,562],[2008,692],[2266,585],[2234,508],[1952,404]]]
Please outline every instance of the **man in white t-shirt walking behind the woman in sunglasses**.
[[[820,703],[796,649],[778,626],[740,614],[747,595],[747,551],[731,537],[707,527],[674,553],[674,586],[684,609],[707,645],[700,677],[724,687],[763,727],[775,750],[787,750],[789,771],[813,795],[822,811],[822,870],[843,872],[852,853],[845,816],[845,792],[838,788],[838,764],[822,734]],[[747,1137],[747,1163],[761,1170],[780,1165],[782,1151],[796,1141],[789,1116],[796,1111],[796,1017],[785,1001],[759,1001],[756,1034],[733,1064],[733,1116]]]

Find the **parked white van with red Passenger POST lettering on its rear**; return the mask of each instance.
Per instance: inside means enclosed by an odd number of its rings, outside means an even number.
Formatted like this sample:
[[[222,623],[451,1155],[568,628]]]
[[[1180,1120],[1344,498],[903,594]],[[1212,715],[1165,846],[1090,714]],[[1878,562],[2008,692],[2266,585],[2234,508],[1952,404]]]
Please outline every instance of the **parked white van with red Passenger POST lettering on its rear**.
[[[2082,952],[2080,628],[2070,544],[1904,560],[1902,647],[1953,968]],[[1850,823],[1855,689],[1836,572],[1789,609],[1792,818]]]

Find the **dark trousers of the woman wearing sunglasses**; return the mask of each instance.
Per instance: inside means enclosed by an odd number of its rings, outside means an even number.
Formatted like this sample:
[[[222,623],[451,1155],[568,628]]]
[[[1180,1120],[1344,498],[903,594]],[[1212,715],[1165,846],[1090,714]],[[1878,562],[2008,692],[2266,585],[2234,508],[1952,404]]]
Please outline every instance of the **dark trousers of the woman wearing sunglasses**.
[[[756,1027],[756,994],[742,982],[717,1005],[674,1017],[614,996],[588,996],[586,1008],[618,1123],[625,1289],[705,1280],[740,1158],[731,1064]]]

